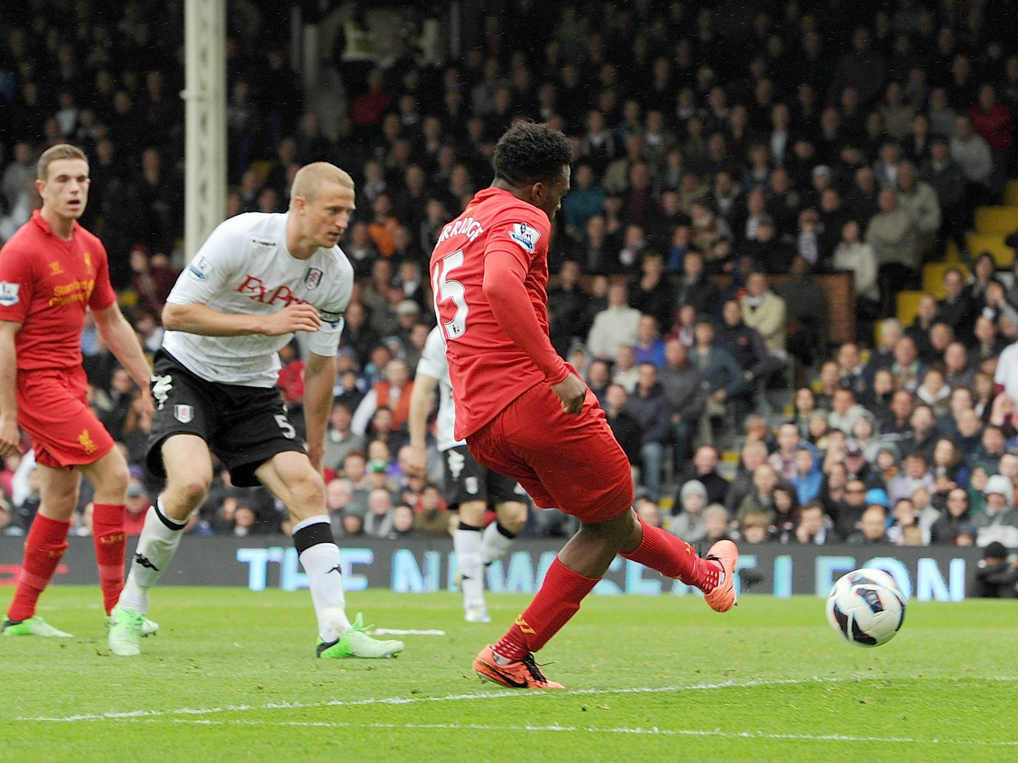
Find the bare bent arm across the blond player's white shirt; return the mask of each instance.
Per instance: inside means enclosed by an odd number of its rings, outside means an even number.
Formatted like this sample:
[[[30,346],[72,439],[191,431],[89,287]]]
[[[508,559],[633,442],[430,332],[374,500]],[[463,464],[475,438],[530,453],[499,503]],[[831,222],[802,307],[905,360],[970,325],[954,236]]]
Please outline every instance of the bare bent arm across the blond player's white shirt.
[[[294,332],[317,332],[322,317],[309,304],[291,304],[271,315],[242,315],[220,312],[196,302],[173,304],[163,308],[167,331],[200,334],[204,337],[246,337],[265,334],[279,337]]]

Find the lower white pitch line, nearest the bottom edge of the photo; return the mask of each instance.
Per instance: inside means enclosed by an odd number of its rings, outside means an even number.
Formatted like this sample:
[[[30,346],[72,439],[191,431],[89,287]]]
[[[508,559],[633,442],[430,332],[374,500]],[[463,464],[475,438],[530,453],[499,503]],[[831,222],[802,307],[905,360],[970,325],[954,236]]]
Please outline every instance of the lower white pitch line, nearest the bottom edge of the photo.
[[[768,731],[723,731],[720,728],[658,728],[627,727],[617,726],[615,728],[603,728],[597,726],[563,726],[554,725],[486,725],[482,723],[346,723],[342,721],[268,721],[268,720],[244,720],[233,718],[227,720],[190,720],[185,718],[121,718],[127,722],[146,723],[192,723],[197,725],[248,725],[248,726],[301,726],[301,727],[322,727],[322,728],[389,728],[389,729],[447,729],[466,731],[579,731],[584,733],[632,733],[666,737],[722,737],[725,739],[747,739],[747,740],[784,740],[792,742],[879,742],[879,743],[906,743],[912,745],[970,745],[978,747],[1018,747],[1018,741],[1005,740],[1000,742],[986,742],[985,740],[924,740],[915,737],[854,737],[842,733],[772,733]]]

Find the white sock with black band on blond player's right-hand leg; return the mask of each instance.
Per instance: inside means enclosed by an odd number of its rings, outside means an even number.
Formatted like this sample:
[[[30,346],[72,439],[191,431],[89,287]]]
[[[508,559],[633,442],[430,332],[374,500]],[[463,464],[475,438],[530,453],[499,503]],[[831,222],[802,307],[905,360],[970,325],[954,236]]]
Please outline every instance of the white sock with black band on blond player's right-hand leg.
[[[319,637],[325,643],[333,642],[349,630],[350,621],[346,617],[339,546],[333,540],[329,517],[317,515],[295,524],[293,545],[307,574]]]

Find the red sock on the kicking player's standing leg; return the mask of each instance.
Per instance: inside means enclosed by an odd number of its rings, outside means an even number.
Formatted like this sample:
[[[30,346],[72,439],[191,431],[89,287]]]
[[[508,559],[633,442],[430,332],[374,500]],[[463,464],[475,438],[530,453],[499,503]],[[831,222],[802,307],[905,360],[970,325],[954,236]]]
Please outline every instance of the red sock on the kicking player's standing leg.
[[[574,573],[556,557],[533,601],[494,647],[510,661],[535,652],[579,610],[579,602],[598,584],[596,578]]]

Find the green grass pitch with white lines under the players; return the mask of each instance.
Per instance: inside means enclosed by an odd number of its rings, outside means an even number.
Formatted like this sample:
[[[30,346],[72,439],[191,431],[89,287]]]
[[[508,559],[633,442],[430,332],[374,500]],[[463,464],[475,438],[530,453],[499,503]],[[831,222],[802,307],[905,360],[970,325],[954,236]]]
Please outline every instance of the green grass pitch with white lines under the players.
[[[0,760],[1018,759],[1016,602],[912,601],[862,649],[817,598],[596,596],[539,655],[567,691],[480,683],[470,660],[526,601],[490,596],[494,622],[468,625],[454,594],[350,594],[366,622],[445,635],[333,661],[306,591],[163,588],[162,632],[118,659],[98,590],[56,587],[40,613],[74,639],[0,639]]]

